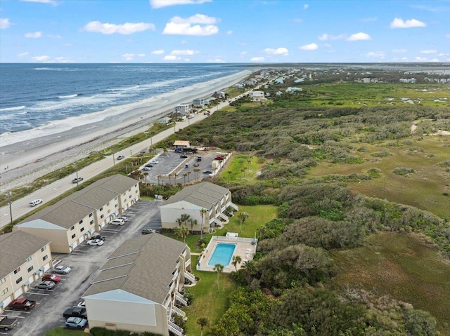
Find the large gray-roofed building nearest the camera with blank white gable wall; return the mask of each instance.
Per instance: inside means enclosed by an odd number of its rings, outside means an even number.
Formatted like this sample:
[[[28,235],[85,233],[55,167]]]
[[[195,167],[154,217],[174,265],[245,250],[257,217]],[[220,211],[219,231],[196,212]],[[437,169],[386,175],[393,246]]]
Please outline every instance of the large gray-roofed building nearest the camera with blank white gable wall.
[[[82,295],[89,327],[184,335],[173,316],[186,316],[175,304],[188,304],[181,293],[195,283],[190,272],[191,250],[181,241],[160,234],[124,241]]]

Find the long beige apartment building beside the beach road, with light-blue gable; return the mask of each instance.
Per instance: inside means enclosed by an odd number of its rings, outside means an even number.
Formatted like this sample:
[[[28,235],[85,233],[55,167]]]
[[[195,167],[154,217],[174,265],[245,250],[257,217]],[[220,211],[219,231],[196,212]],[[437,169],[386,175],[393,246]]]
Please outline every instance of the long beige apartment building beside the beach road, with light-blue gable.
[[[55,253],[71,253],[139,199],[139,181],[124,175],[105,177],[27,217],[13,231],[49,239]]]

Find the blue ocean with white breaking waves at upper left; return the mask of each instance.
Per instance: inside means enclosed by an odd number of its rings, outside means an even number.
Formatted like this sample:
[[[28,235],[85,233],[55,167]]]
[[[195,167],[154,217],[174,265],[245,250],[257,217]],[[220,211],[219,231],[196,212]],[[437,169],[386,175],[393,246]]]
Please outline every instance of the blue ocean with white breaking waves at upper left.
[[[0,147],[99,123],[242,72],[211,64],[0,64]],[[144,104],[145,102],[145,104]]]

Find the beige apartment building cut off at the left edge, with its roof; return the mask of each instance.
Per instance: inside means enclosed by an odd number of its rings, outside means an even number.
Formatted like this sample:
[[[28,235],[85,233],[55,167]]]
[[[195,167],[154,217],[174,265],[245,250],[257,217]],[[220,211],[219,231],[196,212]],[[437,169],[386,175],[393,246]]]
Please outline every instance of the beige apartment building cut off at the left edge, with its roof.
[[[23,231],[0,235],[0,314],[52,267],[49,239]]]

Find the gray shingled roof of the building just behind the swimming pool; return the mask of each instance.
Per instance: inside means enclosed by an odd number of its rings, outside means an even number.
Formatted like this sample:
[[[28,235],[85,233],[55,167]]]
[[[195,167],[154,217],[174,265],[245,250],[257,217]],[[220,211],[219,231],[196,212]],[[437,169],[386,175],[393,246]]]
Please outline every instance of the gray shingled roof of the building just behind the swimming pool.
[[[201,182],[185,187],[183,190],[170,196],[167,201],[162,203],[162,206],[167,206],[179,201],[186,201],[193,203],[196,206],[210,209],[211,206],[221,200],[224,195],[229,193],[229,189],[221,187],[211,182]]]

